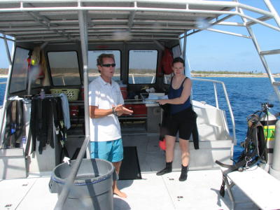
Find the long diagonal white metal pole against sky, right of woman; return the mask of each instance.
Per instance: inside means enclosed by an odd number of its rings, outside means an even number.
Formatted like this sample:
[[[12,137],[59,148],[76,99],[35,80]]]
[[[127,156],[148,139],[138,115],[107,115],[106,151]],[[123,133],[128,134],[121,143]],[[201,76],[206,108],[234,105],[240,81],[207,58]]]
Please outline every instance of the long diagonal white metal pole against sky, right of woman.
[[[238,1],[238,0],[235,0],[235,1]],[[269,7],[269,10],[270,10],[270,8],[273,8],[273,6],[272,6],[272,4],[270,3],[269,0],[264,0],[264,1],[265,1],[265,3],[267,3],[269,5],[269,6],[267,6],[267,7]],[[243,10],[241,8],[238,8],[238,10],[239,10],[239,13],[241,14],[240,18],[246,24],[247,19],[244,18],[244,16],[243,16],[244,15]],[[274,20],[276,20],[276,18],[274,18]],[[265,56],[261,54],[260,45],[258,44],[257,38],[255,37],[255,34],[253,33],[253,29],[250,26],[248,26],[248,25],[246,25],[246,29],[247,29],[248,33],[250,34],[250,36],[252,38],[253,44],[255,45],[255,49],[258,52],[258,55],[259,55],[260,60],[262,62],[262,65],[265,67],[265,71],[267,72],[267,75],[269,77],[270,83],[272,84],[272,87],[274,88],[274,92],[276,93],[276,96],[278,97],[278,100],[280,101],[279,88],[276,85],[274,85],[275,80],[274,80],[274,78],[272,76],[272,72],[269,69],[269,66],[267,64],[267,60],[265,59]]]

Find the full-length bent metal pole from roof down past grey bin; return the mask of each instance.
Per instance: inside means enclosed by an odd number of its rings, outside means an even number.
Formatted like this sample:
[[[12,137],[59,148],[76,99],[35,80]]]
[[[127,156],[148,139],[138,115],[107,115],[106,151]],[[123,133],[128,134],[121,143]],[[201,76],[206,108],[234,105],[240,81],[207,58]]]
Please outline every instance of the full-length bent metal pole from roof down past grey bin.
[[[80,167],[80,163],[83,160],[83,156],[85,151],[87,150],[87,145],[90,142],[90,115],[88,108],[88,59],[87,59],[87,21],[85,11],[78,11],[78,20],[80,25],[80,45],[82,48],[83,55],[83,80],[84,80],[84,92],[85,92],[85,140],[83,141],[83,145],[80,148],[80,152],[78,153],[78,158],[71,169],[68,179],[66,179],[66,183],[62,188],[62,193],[59,196],[57,204],[55,205],[55,210],[60,210],[64,207],[64,203],[69,194],[69,190],[73,181],[78,173],[78,169]]]

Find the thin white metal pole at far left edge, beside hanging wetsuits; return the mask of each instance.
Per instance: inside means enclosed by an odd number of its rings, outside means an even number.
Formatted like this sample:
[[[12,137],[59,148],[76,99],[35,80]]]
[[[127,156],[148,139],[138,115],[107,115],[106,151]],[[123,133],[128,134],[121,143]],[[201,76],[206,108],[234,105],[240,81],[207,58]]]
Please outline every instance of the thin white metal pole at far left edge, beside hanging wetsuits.
[[[6,37],[5,37],[6,38]],[[8,44],[6,45],[6,50],[8,50]],[[12,55],[14,55],[15,52],[15,44],[13,44],[13,48],[12,48]],[[10,55],[10,53],[9,53]],[[13,59],[10,57],[10,60],[12,61]],[[8,78],[7,78],[7,83],[6,83],[6,87],[10,86],[10,78],[12,77],[12,62],[10,61],[10,65],[9,65],[9,70],[8,70]],[[5,90],[5,96],[3,98],[3,109],[2,109],[2,116],[0,119],[0,148],[3,144],[3,134],[4,134],[4,130],[3,130],[3,122],[6,116],[6,108],[7,108],[7,98],[8,98],[8,88],[6,88]]]

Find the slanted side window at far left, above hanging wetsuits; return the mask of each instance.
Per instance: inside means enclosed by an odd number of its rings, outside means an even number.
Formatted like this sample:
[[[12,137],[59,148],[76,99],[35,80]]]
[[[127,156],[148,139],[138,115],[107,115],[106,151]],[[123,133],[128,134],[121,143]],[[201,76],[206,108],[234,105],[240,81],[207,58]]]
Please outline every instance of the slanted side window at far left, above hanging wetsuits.
[[[25,90],[27,87],[27,72],[29,50],[23,48],[15,49],[13,61],[12,78],[10,80],[10,93]]]

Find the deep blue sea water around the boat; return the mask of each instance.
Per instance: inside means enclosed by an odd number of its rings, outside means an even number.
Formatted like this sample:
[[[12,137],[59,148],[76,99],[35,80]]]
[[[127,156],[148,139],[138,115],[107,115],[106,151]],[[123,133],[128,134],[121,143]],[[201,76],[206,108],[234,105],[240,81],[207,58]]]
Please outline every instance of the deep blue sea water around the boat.
[[[213,80],[220,80],[225,83],[228,92],[232,111],[235,116],[235,131],[237,137],[237,146],[235,147],[235,159],[239,156],[242,148],[239,144],[244,141],[246,137],[247,123],[246,117],[261,110],[261,104],[268,102],[274,104],[270,110],[271,113],[280,112],[280,103],[276,98],[276,94],[269,83],[268,78],[221,78],[213,77],[207,78]],[[279,80],[279,78],[276,78]],[[6,78],[0,78],[0,82],[6,81]],[[6,85],[0,85],[0,105],[3,104],[3,97],[5,94]],[[232,134],[232,123],[230,120],[230,113],[223,94],[222,85],[217,85],[218,102],[220,109],[225,110],[230,132]],[[207,104],[216,106],[214,97],[213,83],[206,83],[193,80],[193,99],[196,101],[204,101]]]

